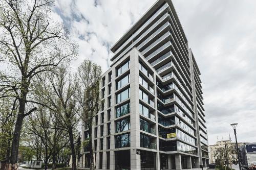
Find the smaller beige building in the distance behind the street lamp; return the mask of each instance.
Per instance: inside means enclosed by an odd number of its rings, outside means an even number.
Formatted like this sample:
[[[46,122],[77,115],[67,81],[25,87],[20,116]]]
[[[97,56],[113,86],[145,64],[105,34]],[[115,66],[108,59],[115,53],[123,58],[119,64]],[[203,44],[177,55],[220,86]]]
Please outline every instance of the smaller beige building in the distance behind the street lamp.
[[[238,142],[238,147],[241,145],[245,144],[246,142]],[[220,140],[217,141],[216,144],[209,145],[208,150],[209,150],[209,163],[210,164],[215,164],[216,160],[220,159],[220,150],[225,148],[226,144],[226,149],[228,151],[228,158],[229,158],[229,163],[231,162],[236,162],[238,160],[238,156],[236,153],[236,142],[230,140]]]

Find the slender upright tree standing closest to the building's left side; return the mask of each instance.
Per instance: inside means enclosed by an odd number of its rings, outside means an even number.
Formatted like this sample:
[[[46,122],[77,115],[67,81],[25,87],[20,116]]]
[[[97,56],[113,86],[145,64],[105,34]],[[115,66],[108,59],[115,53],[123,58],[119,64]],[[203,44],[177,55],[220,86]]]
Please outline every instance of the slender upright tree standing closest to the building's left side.
[[[88,148],[90,148],[90,169],[94,169],[94,154],[92,146],[92,126],[94,117],[100,109],[101,67],[90,60],[84,60],[78,67],[79,87],[76,99],[81,111],[80,118],[89,130]]]

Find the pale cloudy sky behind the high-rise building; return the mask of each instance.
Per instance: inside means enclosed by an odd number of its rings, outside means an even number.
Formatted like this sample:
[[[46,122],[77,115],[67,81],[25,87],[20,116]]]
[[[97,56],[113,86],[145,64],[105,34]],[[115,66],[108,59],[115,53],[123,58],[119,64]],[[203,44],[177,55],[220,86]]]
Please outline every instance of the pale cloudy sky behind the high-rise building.
[[[72,67],[86,58],[111,64],[110,47],[156,0],[57,0],[52,17],[79,45]],[[201,71],[209,144],[229,137],[256,142],[256,1],[173,0]]]

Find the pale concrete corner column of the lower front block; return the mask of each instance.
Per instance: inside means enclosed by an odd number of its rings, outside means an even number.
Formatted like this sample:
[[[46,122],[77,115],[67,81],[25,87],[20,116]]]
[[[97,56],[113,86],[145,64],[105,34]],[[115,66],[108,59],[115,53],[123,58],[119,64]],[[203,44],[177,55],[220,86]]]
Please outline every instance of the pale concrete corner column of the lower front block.
[[[131,170],[140,169],[140,115],[139,115],[139,53],[135,48],[130,54],[130,98],[131,98]]]

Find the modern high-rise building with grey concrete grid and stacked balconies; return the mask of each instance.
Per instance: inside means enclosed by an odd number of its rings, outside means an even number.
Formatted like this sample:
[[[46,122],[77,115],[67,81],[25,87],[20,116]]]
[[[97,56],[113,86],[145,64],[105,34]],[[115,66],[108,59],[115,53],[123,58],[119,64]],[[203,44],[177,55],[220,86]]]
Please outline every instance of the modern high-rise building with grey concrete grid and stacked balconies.
[[[111,51],[93,128],[96,169],[206,169],[200,70],[172,1],[157,1]],[[89,167],[87,151],[80,167]]]

